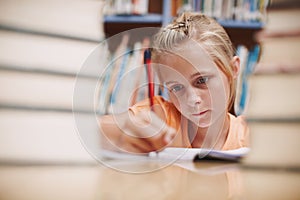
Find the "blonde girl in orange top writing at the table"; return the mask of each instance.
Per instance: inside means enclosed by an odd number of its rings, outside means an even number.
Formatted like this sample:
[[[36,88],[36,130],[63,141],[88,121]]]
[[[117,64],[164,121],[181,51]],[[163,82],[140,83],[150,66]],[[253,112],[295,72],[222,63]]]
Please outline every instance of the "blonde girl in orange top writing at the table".
[[[203,14],[186,12],[155,35],[152,47],[153,67],[169,100],[155,96],[153,108],[146,99],[126,113],[102,116],[106,144],[135,153],[248,146],[243,118],[229,113],[240,60],[225,30]]]

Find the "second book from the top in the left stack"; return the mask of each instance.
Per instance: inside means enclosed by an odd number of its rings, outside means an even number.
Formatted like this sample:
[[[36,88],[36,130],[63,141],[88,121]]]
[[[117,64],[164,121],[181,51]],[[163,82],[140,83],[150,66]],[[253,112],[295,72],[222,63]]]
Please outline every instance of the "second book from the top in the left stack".
[[[93,51],[99,52],[98,66],[82,75],[97,77],[101,64],[105,65],[106,47],[100,47],[102,43],[7,30],[0,30],[0,43],[0,68],[76,76]]]

